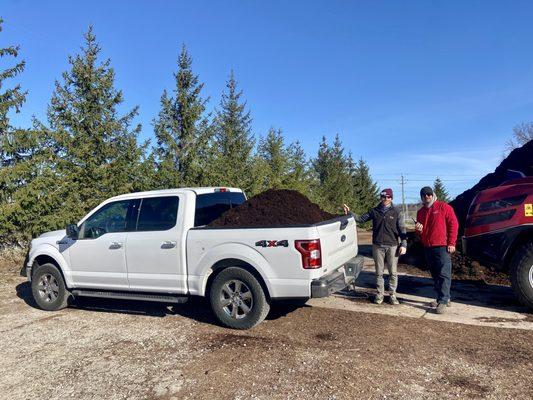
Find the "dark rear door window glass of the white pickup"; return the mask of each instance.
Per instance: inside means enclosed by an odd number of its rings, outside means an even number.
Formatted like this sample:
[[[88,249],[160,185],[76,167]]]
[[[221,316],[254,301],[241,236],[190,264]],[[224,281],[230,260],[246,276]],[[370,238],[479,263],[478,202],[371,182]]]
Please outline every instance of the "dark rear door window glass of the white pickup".
[[[176,226],[179,198],[176,196],[142,199],[137,231],[166,231]]]

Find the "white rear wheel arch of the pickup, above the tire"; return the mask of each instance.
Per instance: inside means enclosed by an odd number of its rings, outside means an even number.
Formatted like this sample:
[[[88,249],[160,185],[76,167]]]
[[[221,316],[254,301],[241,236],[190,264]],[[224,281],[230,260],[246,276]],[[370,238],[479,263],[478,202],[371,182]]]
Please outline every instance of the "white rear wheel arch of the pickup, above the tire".
[[[227,267],[241,267],[252,273],[259,281],[267,297],[274,296],[274,288],[269,277],[274,271],[268,261],[257,250],[249,246],[231,243],[217,246],[209,251],[199,262],[201,270],[198,274],[203,277],[199,288],[199,295],[206,296],[207,290],[216,273]]]

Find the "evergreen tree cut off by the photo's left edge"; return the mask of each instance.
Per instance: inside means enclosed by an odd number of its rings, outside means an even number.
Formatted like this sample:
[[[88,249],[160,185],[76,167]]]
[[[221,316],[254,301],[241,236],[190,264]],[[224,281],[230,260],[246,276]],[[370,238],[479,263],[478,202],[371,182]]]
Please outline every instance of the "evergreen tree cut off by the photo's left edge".
[[[2,31],[0,19],[0,32]],[[0,59],[18,57],[19,47],[0,48]],[[56,181],[44,132],[11,125],[9,114],[19,112],[26,92],[20,85],[6,88],[24,70],[24,62],[0,71],[0,248],[23,246],[48,227],[50,201]]]

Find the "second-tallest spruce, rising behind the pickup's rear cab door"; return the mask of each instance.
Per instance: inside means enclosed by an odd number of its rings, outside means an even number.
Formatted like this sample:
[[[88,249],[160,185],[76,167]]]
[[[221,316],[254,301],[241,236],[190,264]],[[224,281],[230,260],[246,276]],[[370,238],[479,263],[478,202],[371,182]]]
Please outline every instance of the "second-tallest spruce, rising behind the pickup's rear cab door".
[[[192,71],[192,58],[183,46],[174,74],[174,96],[163,91],[161,110],[154,121],[157,145],[157,186],[198,186],[212,180],[208,162],[212,130],[204,116],[208,99]]]

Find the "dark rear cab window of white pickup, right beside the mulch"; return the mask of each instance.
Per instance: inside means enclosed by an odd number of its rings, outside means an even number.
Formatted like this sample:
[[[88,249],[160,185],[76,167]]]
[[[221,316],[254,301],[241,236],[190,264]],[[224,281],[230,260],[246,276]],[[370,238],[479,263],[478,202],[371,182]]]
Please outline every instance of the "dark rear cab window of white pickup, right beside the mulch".
[[[199,194],[196,196],[196,212],[194,214],[194,226],[207,225],[220,217],[232,207],[236,207],[246,201],[244,193],[239,192],[215,192]]]

